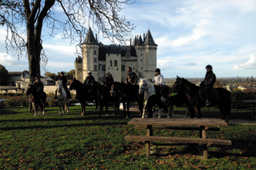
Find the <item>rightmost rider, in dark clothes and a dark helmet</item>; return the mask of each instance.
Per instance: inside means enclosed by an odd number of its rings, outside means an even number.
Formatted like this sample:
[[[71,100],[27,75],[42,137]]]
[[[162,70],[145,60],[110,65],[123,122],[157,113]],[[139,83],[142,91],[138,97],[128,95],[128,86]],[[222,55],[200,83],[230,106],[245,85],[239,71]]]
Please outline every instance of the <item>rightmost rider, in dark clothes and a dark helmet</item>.
[[[216,82],[216,75],[212,71],[212,65],[206,65],[206,74],[203,82],[200,86],[204,90],[204,95],[206,97],[206,106],[211,105],[210,92],[214,88],[214,83]]]

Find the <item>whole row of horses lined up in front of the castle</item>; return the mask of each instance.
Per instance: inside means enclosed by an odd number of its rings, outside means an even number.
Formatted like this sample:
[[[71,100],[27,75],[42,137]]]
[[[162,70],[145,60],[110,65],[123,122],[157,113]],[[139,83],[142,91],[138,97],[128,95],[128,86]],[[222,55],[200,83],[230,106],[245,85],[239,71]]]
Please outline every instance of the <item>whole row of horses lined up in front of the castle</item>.
[[[66,92],[61,81],[56,83],[56,87],[57,99],[59,101],[59,114],[61,114],[61,107],[63,108],[62,114],[64,114],[64,105],[68,106],[68,97],[66,97]],[[158,105],[159,108],[158,118],[161,117],[161,114],[169,118],[173,113],[173,106],[180,105],[181,103],[186,105],[187,111],[190,112],[190,118],[194,118],[195,114],[197,118],[201,118],[201,107],[205,107],[205,101],[200,95],[201,88],[188,82],[188,80],[179,77],[177,77],[175,83],[171,87],[166,85],[155,86],[145,78],[139,80],[139,84],[135,85],[113,82],[111,87],[106,87],[99,82],[94,81],[90,86],[87,86],[79,80],[76,80],[76,78],[73,78],[70,81],[69,90],[76,90],[76,99],[81,103],[82,116],[85,116],[86,114],[85,105],[88,101],[95,101],[96,103],[94,114],[98,110],[98,105],[100,105],[98,117],[102,115],[104,106],[106,109],[106,116],[109,115],[108,107],[110,102],[114,103],[114,114],[119,112],[120,101],[124,107],[124,117],[126,118],[130,116],[129,108],[130,102],[132,101],[138,103],[139,113],[142,115],[142,118],[145,117],[146,113],[149,118],[156,116],[154,114],[155,105]],[[173,92],[176,92],[177,95],[172,96],[171,94]],[[218,99],[212,101],[212,106],[218,105],[222,120],[228,122],[231,109],[231,93],[224,88],[216,88],[216,92],[218,93]],[[40,112],[44,114],[46,95],[41,99],[42,97],[38,96],[35,87],[32,85],[29,85],[27,95],[31,95],[31,103],[33,103],[34,110],[36,111],[37,107],[40,106]],[[162,109],[164,113],[162,113]]]

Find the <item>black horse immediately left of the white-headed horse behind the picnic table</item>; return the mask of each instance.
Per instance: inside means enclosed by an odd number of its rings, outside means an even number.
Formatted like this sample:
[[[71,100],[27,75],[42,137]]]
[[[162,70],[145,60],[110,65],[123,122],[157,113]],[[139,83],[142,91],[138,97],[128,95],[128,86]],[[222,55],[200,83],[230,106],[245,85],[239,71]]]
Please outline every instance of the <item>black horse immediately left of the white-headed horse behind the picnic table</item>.
[[[139,112],[142,114],[143,109],[143,95],[139,95],[139,85],[124,84],[121,82],[113,82],[111,86],[111,96],[119,95],[124,108],[124,117],[129,118],[130,102],[136,100],[139,105]],[[127,104],[127,107],[126,107]],[[127,116],[126,116],[127,109]]]

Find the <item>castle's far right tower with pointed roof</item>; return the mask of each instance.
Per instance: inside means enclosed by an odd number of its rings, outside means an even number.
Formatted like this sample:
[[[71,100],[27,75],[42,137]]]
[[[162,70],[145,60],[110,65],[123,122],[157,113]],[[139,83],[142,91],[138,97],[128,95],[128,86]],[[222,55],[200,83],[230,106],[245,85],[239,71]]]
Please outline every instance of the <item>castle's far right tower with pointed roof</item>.
[[[154,78],[154,70],[156,69],[156,50],[157,44],[150,33],[150,29],[147,31],[147,35],[144,40],[144,75],[146,78]]]

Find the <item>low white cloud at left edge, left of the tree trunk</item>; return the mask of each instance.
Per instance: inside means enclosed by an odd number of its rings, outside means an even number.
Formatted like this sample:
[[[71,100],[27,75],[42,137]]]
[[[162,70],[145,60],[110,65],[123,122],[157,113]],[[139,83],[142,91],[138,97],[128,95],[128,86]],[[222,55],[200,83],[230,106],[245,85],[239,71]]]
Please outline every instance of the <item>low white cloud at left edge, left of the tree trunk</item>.
[[[20,60],[12,57],[8,53],[0,52],[0,63],[1,65],[28,65],[27,61]]]

